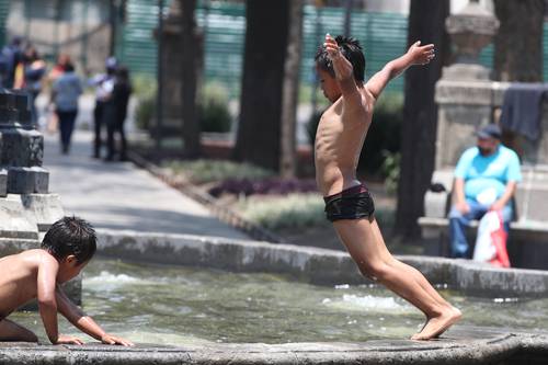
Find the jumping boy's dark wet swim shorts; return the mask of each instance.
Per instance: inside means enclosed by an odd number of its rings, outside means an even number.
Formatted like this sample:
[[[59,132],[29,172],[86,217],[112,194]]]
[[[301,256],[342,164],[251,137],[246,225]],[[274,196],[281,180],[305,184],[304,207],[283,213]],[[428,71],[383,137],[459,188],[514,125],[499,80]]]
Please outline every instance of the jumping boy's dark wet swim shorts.
[[[329,220],[361,219],[373,217],[375,204],[364,184],[343,190],[339,194],[324,196],[326,216]]]

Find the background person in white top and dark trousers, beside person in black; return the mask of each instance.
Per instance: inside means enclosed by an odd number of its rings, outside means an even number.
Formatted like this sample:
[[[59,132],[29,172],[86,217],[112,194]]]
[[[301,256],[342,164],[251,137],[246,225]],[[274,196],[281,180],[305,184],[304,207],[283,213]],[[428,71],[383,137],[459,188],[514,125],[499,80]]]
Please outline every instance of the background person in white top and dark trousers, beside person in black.
[[[114,57],[109,57],[105,61],[105,73],[94,76],[89,84],[95,87],[95,109],[93,110],[93,123],[95,138],[93,142],[93,158],[101,158],[101,129],[106,124],[105,110],[109,98],[114,89],[114,77],[117,61]]]

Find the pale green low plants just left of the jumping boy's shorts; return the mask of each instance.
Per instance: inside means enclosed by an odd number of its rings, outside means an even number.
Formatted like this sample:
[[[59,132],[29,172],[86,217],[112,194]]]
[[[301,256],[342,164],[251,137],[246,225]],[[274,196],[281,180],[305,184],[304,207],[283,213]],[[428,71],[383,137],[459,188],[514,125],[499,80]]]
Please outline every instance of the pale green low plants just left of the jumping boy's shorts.
[[[305,228],[326,223],[323,201],[316,193],[250,197],[239,203],[238,212],[267,229]]]

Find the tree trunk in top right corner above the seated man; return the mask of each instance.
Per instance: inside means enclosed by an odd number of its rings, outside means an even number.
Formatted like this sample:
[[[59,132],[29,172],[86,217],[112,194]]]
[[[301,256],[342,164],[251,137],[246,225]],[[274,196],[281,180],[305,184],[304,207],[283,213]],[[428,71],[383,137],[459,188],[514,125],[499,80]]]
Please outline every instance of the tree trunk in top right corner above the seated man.
[[[500,81],[543,80],[544,0],[494,0],[501,22],[494,37],[494,78]]]

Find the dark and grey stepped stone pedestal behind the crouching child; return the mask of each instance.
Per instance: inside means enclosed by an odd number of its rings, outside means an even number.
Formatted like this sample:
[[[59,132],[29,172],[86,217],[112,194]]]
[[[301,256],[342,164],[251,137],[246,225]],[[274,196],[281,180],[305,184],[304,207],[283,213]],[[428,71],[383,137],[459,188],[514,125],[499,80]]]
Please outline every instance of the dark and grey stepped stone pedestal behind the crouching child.
[[[42,167],[44,137],[31,122],[28,98],[0,89],[0,256],[39,247],[64,216],[59,196],[48,192]],[[80,281],[69,294],[80,303]]]

